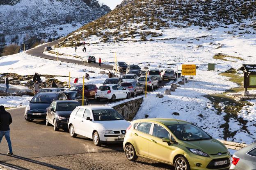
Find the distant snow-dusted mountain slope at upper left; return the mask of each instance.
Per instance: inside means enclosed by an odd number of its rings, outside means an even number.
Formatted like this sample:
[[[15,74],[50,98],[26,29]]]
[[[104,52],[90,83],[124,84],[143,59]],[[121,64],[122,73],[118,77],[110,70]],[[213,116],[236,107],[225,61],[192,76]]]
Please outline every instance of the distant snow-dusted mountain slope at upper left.
[[[70,33],[77,29],[75,25],[88,23],[109,11],[97,0],[4,0],[0,2],[0,34],[59,31],[71,23],[66,31]],[[38,38],[49,37],[40,35]]]

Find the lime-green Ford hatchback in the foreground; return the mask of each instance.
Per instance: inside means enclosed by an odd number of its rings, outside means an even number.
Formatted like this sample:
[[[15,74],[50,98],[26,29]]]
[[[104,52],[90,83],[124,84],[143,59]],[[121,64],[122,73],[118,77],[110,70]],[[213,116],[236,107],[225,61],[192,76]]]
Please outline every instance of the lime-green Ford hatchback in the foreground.
[[[221,142],[192,123],[177,119],[139,119],[123,141],[130,161],[145,157],[175,170],[229,170],[230,152]]]

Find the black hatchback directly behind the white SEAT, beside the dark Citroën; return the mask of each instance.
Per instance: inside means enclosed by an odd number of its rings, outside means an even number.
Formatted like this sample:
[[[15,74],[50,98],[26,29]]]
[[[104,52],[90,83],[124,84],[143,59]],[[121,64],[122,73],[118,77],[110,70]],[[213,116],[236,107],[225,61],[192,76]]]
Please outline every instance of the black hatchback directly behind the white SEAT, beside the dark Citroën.
[[[58,131],[59,128],[68,129],[68,119],[72,111],[80,106],[78,101],[62,100],[53,101],[46,112],[46,125],[53,125],[53,129]]]

